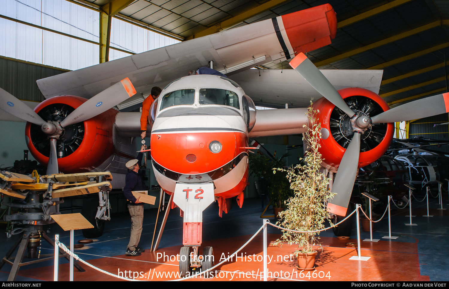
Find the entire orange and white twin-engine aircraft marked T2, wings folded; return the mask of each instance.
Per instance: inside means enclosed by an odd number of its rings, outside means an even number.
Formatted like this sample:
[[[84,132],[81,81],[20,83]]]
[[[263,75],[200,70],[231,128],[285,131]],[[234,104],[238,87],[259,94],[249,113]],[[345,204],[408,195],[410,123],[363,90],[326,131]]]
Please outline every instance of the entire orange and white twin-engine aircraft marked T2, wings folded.
[[[387,150],[393,122],[449,111],[447,94],[389,110],[377,94],[382,71],[319,71],[304,53],[330,44],[335,33],[335,12],[325,4],[38,80],[47,100],[34,111],[1,90],[0,108],[28,121],[28,147],[48,173],[109,170],[120,188],[124,164],[136,153],[140,113],[112,107],[140,103],[152,86],[165,87],[147,130],[158,183],[184,211],[180,271],[187,274],[201,266],[202,211],[217,199],[220,213],[227,211],[233,196],[242,205],[249,138],[304,133],[311,98],[320,111],[314,121],[322,127],[323,166],[337,172],[328,208],[343,216],[357,169]],[[249,70],[289,59],[295,71]],[[185,76],[208,62],[229,78]],[[256,111],[254,102],[297,108]],[[211,265],[202,262],[203,270]]]

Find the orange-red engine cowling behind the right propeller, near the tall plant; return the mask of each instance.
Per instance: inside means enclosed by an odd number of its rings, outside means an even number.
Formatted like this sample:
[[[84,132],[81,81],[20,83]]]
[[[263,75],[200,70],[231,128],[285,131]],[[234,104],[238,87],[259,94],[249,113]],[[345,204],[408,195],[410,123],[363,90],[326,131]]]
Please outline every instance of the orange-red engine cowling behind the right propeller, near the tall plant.
[[[338,92],[353,111],[357,110],[370,117],[390,109],[383,98],[367,89],[346,88]],[[324,163],[328,168],[338,168],[354,133],[350,129],[349,116],[326,98],[320,98],[314,102],[313,108],[317,111],[314,119],[321,123],[320,153]],[[379,159],[390,146],[393,134],[392,123],[371,125],[361,135],[358,168]]]

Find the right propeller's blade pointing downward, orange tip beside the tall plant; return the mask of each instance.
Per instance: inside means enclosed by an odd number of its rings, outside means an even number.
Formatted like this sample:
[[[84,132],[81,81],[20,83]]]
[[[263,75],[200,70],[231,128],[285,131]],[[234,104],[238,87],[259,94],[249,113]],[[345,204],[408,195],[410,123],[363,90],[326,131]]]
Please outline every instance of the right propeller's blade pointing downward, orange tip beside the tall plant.
[[[335,176],[332,192],[337,193],[335,197],[327,203],[330,213],[345,216],[348,210],[349,199],[352,188],[357,177],[357,167],[360,155],[360,133],[354,133],[348,148],[340,162],[337,175]]]

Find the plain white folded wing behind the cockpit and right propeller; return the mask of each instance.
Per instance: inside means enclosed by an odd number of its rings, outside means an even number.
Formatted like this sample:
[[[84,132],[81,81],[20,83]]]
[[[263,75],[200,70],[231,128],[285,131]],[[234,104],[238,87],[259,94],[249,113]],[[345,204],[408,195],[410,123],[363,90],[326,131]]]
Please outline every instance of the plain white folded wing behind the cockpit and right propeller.
[[[383,70],[323,69],[335,89],[359,87],[379,94]],[[230,79],[237,82],[245,93],[259,106],[308,107],[310,100],[322,95],[293,69],[249,69]]]

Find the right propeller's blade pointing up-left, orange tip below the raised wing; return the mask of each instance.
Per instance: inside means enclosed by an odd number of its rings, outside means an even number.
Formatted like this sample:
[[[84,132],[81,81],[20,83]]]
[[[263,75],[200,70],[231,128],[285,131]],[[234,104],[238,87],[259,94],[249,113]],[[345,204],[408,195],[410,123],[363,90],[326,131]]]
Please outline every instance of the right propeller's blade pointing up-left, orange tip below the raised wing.
[[[349,117],[354,116],[354,111],[348,107],[343,98],[341,98],[338,91],[330,84],[326,76],[304,55],[300,52],[289,63],[290,66],[299,73],[300,76],[312,85],[312,87],[324,96],[327,100],[335,104],[336,107],[341,109]]]

